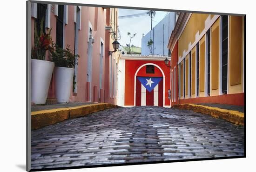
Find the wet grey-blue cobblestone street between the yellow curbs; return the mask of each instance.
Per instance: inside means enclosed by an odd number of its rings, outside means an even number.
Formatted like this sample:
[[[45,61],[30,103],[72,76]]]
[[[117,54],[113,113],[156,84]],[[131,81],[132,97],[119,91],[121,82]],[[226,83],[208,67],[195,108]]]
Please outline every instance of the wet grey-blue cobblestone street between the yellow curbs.
[[[32,169],[243,156],[243,133],[188,110],[108,109],[32,131]]]

